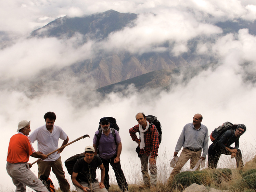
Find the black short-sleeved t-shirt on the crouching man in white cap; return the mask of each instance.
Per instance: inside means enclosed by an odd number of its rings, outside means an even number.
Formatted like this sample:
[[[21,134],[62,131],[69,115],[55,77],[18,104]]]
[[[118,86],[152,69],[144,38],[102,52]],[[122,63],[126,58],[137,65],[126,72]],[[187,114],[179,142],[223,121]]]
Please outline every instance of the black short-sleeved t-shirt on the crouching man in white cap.
[[[76,180],[79,183],[82,181],[89,183],[95,182],[96,170],[100,165],[102,165],[102,161],[98,156],[94,156],[90,164],[84,160],[84,157],[77,159],[73,167],[73,172],[78,173]]]

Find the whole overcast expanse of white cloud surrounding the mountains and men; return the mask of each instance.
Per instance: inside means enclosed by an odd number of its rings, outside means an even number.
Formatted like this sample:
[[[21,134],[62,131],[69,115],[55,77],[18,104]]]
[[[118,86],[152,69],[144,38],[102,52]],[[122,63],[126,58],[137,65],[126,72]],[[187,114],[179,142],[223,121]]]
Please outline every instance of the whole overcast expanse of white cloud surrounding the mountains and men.
[[[185,124],[192,122],[195,113],[203,115],[202,124],[208,127],[209,132],[225,121],[245,124],[247,131],[240,139],[240,149],[244,161],[254,157],[256,88],[248,77],[255,80],[256,37],[249,34],[248,29],[224,35],[221,28],[215,25],[219,21],[237,19],[253,22],[256,19],[254,0],[11,0],[3,1],[1,5],[0,120],[3,139],[0,191],[15,190],[5,164],[9,139],[16,133],[18,122],[31,120],[33,131],[44,124],[43,115],[48,111],[56,113],[55,124],[64,129],[70,141],[85,134],[91,136],[68,146],[62,152],[63,163],[69,156],[81,153],[86,145],[92,144],[101,117],[114,116],[123,144],[121,164],[129,183],[141,179],[136,143],[128,133],[128,129],[137,124],[135,115],[138,112],[157,116],[163,126],[163,141],[157,160],[162,182],[171,171],[169,162],[180,132]],[[82,45],[79,44],[80,34],[68,40],[27,39],[31,31],[58,17],[89,15],[110,9],[138,13],[136,26],[111,34],[104,42],[89,41]],[[200,72],[186,84],[172,87],[169,92],[152,96],[155,95],[153,91],[138,92],[130,86],[127,90],[130,94],[126,97],[112,93],[100,98],[89,90],[93,89],[93,82],[81,84],[78,78],[65,74],[61,84],[46,82],[38,97],[27,96],[27,82],[36,79],[42,69],[51,73],[51,67],[61,69],[91,58],[96,47],[105,51],[161,52],[166,51],[162,45],[168,42],[173,45],[168,50],[170,54],[179,56],[189,51],[187,43],[193,38],[199,39],[197,53],[214,56],[217,64]],[[176,77],[179,78],[182,79],[182,75]],[[33,146],[37,149],[36,143]],[[221,159],[219,167],[235,166],[234,159],[228,156]],[[35,160],[30,157],[29,162]],[[37,175],[37,165],[32,170]],[[50,178],[58,186],[55,176]]]

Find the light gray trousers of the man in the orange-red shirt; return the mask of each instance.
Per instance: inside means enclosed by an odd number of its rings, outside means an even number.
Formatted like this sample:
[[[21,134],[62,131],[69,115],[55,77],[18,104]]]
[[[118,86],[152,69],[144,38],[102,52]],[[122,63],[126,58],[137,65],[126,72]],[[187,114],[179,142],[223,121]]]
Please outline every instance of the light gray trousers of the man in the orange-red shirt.
[[[15,192],[26,192],[26,186],[37,192],[49,192],[42,181],[28,167],[28,163],[9,163],[6,164],[8,175],[12,178],[16,186]]]

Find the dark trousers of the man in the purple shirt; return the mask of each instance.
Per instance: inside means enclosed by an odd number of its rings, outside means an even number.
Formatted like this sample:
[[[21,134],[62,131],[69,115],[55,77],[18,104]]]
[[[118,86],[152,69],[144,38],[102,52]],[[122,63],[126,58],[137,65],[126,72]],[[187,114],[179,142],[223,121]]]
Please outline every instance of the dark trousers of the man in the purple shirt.
[[[116,181],[117,181],[117,184],[118,184],[119,188],[122,191],[126,191],[126,190],[128,190],[128,184],[126,182],[124,172],[123,172],[123,170],[121,168],[121,163],[120,162],[114,163],[114,159],[115,158],[116,158],[116,155],[114,155],[110,159],[103,159],[103,158],[101,158],[102,163],[103,163],[103,165],[105,167],[104,185],[105,185],[105,188],[108,190],[109,187],[110,187],[109,176],[108,176],[109,164],[110,164],[112,166],[114,172],[115,172]]]

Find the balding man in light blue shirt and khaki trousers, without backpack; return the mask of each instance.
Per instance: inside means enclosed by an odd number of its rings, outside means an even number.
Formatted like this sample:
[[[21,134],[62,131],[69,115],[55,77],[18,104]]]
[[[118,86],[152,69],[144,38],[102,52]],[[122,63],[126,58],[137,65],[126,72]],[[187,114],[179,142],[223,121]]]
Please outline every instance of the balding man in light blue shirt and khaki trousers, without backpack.
[[[176,166],[171,171],[168,182],[172,182],[175,175],[177,175],[181,168],[190,159],[190,169],[193,169],[199,159],[205,160],[208,152],[208,129],[205,125],[201,124],[203,116],[201,114],[195,114],[193,122],[185,125],[180,134],[178,142],[175,147],[174,157],[178,155],[181,147],[180,157],[176,163]],[[201,156],[203,149],[203,155]],[[200,169],[200,166],[197,170]]]

